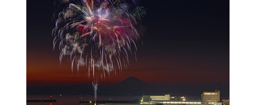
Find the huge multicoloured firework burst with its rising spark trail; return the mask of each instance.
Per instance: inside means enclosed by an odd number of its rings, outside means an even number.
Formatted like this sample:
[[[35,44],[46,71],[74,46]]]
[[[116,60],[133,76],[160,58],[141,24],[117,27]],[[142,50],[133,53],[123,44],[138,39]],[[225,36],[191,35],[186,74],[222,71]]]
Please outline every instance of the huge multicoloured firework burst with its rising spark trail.
[[[86,75],[88,74],[90,79],[90,73],[93,74],[93,85],[96,88],[98,78],[103,79],[103,76],[104,79],[106,78],[105,71],[110,77],[110,73],[116,74],[116,66],[119,68],[119,73],[122,73],[122,68],[127,69],[130,64],[129,55],[134,54],[137,61],[134,41],[140,41],[140,31],[136,28],[140,27],[140,20],[146,15],[146,8],[138,6],[140,4],[138,0],[130,0],[133,4],[127,2],[125,0],[81,0],[80,2],[56,0],[54,2],[56,11],[52,18],[55,24],[52,30],[53,47],[55,49],[59,46],[60,64],[63,57],[70,56],[72,73],[74,65],[77,66],[77,72],[81,66],[86,65],[86,68],[88,67]],[[132,47],[135,47],[135,50]]]

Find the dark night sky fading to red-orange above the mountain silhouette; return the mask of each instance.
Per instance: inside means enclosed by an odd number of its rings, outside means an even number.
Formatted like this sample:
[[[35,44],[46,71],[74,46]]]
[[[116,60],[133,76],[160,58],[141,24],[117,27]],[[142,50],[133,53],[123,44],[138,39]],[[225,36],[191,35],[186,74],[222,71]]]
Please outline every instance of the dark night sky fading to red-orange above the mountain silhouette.
[[[86,67],[67,58],[60,65],[53,50],[54,0],[27,0],[27,86],[91,84]],[[137,62],[104,80],[105,85],[134,76],[150,84],[222,83],[229,87],[228,0],[141,0],[143,38]],[[214,85],[215,86],[215,85]],[[214,89],[213,86],[213,89]],[[213,90],[214,91],[214,90]]]

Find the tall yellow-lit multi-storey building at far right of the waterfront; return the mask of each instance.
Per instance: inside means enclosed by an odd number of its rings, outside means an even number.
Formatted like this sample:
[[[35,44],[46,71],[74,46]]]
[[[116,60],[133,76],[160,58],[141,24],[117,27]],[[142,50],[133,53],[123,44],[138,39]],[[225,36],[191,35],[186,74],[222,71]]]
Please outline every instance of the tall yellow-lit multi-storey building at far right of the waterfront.
[[[201,95],[202,103],[216,104],[220,102],[220,91],[215,90],[214,92],[203,92]]]

